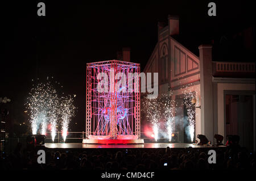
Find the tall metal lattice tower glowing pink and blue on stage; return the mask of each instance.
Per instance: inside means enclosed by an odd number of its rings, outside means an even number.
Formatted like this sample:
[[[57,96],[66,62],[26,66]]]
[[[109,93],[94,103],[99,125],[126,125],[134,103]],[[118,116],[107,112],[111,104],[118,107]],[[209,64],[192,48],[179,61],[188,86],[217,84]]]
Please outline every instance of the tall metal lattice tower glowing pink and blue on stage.
[[[87,64],[83,143],[143,143],[140,71],[139,64],[118,60]]]

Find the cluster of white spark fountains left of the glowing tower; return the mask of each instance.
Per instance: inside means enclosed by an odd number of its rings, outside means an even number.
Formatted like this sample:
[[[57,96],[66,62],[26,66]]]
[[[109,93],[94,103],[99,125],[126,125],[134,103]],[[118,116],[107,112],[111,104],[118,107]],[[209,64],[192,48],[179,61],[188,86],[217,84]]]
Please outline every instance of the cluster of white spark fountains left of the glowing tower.
[[[28,116],[30,116],[32,134],[37,134],[38,132],[46,134],[47,125],[49,124],[52,141],[54,141],[57,125],[61,124],[63,132],[65,132],[63,134],[65,140],[69,121],[75,115],[76,107],[73,106],[72,96],[63,96],[60,99],[51,81],[38,83],[33,85],[30,90],[25,106],[28,110]],[[60,123],[60,120],[62,120],[62,123]]]

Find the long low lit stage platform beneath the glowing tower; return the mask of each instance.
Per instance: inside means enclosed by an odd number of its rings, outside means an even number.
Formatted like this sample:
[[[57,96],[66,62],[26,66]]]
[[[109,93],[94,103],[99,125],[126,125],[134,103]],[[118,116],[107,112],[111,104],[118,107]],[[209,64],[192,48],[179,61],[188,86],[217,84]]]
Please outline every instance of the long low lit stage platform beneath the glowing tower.
[[[45,144],[49,149],[98,149],[98,148],[112,148],[112,149],[133,149],[133,148],[146,148],[146,149],[158,149],[166,148],[169,146],[171,149],[179,148],[225,148],[225,146],[207,146],[207,145],[193,145],[193,144],[169,144],[169,143],[145,143],[145,144],[127,144],[127,145],[101,145],[101,144]]]

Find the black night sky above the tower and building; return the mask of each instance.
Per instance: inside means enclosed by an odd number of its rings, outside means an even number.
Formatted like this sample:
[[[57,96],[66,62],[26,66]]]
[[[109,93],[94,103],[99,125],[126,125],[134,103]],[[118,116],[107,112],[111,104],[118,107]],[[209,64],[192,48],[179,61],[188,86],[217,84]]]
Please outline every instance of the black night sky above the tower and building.
[[[53,76],[67,94],[77,94],[75,131],[85,127],[86,62],[112,60],[117,50],[131,47],[131,61],[143,69],[157,41],[157,23],[167,22],[168,14],[180,16],[180,34],[192,49],[243,28],[255,30],[254,1],[41,1],[45,17],[36,14],[38,2],[1,2],[0,96],[11,98],[13,119],[22,123],[37,54],[38,77]],[[209,2],[216,2],[216,17],[207,15]]]

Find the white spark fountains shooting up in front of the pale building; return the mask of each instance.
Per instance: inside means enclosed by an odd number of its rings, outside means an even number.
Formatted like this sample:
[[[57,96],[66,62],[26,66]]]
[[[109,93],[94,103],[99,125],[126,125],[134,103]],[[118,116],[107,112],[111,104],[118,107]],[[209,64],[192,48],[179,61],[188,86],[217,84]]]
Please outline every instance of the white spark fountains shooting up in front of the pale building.
[[[191,90],[188,87],[183,87],[183,94],[184,94],[184,108],[187,110],[188,113],[188,130],[185,129],[187,134],[190,135],[191,142],[193,142],[194,132],[195,132],[195,106],[191,103],[192,99],[195,99],[196,91]],[[182,90],[182,89],[181,89]],[[150,121],[152,126],[152,131],[154,132],[151,134],[151,137],[155,138],[155,141],[158,140],[158,133],[159,133],[159,120],[166,121],[166,130],[167,134],[163,136],[168,137],[169,141],[171,141],[172,133],[175,131],[175,100],[171,99],[171,95],[162,94],[159,96],[158,99],[143,99],[143,112],[147,112],[146,119]]]

